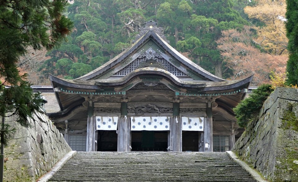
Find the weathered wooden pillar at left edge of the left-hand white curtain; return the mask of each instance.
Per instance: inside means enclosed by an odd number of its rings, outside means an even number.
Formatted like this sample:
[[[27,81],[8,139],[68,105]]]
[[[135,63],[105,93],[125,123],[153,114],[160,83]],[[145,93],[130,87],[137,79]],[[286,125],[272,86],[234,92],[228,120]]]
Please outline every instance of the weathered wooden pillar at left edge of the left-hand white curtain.
[[[93,116],[93,108],[94,104],[93,101],[88,101],[88,119],[87,119],[87,144],[86,144],[86,151],[92,152],[95,151],[95,121]]]

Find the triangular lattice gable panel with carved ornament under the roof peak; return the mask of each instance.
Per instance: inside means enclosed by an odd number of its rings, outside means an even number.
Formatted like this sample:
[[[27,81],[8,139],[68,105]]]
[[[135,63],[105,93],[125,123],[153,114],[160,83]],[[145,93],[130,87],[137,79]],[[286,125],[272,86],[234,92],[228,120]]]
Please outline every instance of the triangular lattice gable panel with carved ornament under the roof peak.
[[[149,64],[147,64],[149,63]],[[115,73],[113,76],[125,76],[128,73],[142,67],[158,67],[161,69],[165,69],[168,72],[174,74],[177,77],[187,77],[188,75],[180,71],[169,61],[165,60],[161,55],[156,53],[152,48],[148,49],[142,55],[140,55],[137,59],[133,60],[130,64],[125,66],[123,69]]]

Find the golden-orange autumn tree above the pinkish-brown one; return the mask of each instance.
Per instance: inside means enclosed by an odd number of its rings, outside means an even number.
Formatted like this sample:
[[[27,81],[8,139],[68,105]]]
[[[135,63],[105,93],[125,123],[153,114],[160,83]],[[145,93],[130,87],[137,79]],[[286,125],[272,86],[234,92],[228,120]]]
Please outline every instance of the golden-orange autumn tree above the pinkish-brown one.
[[[264,26],[254,26],[258,37],[254,42],[264,51],[272,55],[281,55],[287,52],[288,39],[285,28],[285,0],[258,0],[254,7],[247,6],[244,12],[250,19],[257,19]]]

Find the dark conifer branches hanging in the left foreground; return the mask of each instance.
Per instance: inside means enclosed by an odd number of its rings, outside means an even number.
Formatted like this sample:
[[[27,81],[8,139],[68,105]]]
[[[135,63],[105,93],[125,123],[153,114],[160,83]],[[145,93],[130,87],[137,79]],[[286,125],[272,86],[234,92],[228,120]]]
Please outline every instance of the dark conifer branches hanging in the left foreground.
[[[66,5],[66,0],[1,1],[0,116],[16,115],[27,127],[28,118],[34,110],[39,111],[40,94],[33,94],[26,74],[18,70],[18,60],[28,47],[50,50],[72,31],[72,22],[63,15]],[[1,136],[5,137],[9,133],[5,134],[8,129],[3,127]]]

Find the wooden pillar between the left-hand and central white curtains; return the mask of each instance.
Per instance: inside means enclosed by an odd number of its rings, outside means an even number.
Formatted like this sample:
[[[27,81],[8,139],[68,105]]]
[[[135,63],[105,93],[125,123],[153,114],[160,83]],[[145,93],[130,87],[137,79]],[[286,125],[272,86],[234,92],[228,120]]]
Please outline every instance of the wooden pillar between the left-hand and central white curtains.
[[[121,102],[121,116],[118,122],[118,152],[130,151],[130,127],[129,119],[127,118],[127,102]]]

